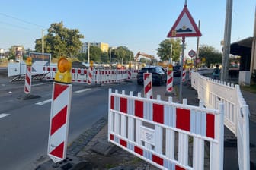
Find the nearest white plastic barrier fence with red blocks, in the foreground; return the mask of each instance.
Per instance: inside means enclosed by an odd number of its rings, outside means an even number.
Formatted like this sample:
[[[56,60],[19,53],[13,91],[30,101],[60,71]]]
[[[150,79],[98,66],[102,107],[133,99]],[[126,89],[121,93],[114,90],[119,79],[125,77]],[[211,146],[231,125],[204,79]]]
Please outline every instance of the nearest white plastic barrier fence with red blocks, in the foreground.
[[[223,105],[219,110],[109,90],[108,141],[161,169],[223,169]],[[192,139],[192,140],[190,140]],[[189,152],[189,148],[193,151]],[[190,153],[190,155],[189,155]],[[191,156],[192,155],[192,156]],[[189,160],[192,161],[190,162]]]

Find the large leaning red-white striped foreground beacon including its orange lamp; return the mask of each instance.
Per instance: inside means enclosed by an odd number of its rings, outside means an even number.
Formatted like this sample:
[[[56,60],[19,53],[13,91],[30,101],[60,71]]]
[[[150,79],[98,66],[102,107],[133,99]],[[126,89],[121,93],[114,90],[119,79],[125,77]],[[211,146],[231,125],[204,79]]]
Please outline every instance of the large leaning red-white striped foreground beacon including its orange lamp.
[[[71,62],[66,58],[60,58],[58,68],[53,83],[47,150],[48,156],[55,163],[66,159],[72,96]]]

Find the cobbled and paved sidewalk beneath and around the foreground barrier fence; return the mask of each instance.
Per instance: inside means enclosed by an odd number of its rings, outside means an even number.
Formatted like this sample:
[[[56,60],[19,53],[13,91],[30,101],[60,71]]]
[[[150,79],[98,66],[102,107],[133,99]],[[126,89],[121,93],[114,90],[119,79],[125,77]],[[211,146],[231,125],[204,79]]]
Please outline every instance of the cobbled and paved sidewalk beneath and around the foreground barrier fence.
[[[165,87],[162,86],[161,91],[157,93],[153,91],[153,98],[156,99],[156,95],[160,94],[162,100],[168,100],[168,96],[165,96]],[[175,89],[175,88],[174,88]],[[176,87],[176,90],[178,88]],[[256,141],[255,141],[255,129],[256,129],[256,105],[254,99],[256,94],[242,92],[245,101],[248,103],[251,117],[250,117],[250,137],[251,137],[251,160],[256,161]],[[191,87],[183,86],[183,99],[187,99],[188,105],[199,105],[197,100],[197,91]],[[178,96],[173,97],[174,102],[178,101]],[[254,137],[254,138],[253,138]],[[235,139],[235,136],[225,128],[225,143],[224,143],[224,169],[238,169],[237,162],[237,146],[236,142],[229,139]],[[55,168],[53,167],[55,166]],[[110,169],[110,170],[158,170],[149,163],[144,162],[142,159],[133,156],[132,154],[114,146],[107,142],[107,118],[101,118],[97,121],[88,131],[80,135],[68,148],[67,159],[61,162],[59,165],[53,165],[50,160],[43,163],[36,168],[37,170],[60,170],[60,169],[72,169],[72,170],[90,170],[90,169]],[[252,165],[251,165],[251,169]]]

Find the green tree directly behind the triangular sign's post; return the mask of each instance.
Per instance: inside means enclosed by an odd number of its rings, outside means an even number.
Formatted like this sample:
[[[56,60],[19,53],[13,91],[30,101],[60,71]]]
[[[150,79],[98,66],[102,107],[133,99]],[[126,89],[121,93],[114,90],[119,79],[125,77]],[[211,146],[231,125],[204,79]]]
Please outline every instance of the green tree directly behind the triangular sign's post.
[[[165,39],[159,44],[157,54],[162,61],[168,61],[170,57],[172,58],[172,61],[178,61],[181,50],[181,39]]]

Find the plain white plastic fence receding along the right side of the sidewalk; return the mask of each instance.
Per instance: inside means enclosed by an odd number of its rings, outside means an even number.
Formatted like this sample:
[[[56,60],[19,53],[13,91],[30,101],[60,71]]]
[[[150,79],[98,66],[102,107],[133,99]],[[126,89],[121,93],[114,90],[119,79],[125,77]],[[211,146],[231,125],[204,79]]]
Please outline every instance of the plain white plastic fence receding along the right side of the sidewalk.
[[[250,169],[249,109],[238,85],[221,82],[192,72],[191,86],[206,108],[224,104],[225,125],[237,137],[239,169]]]

